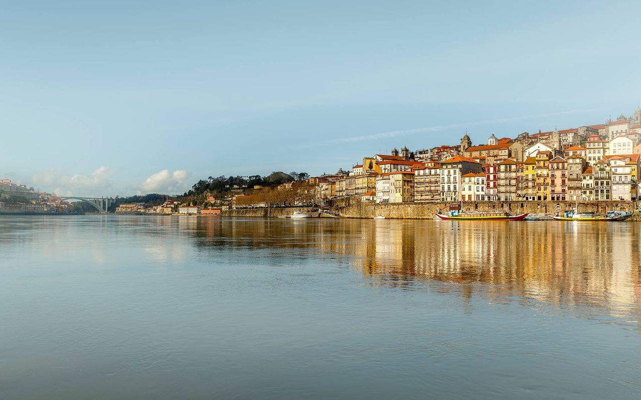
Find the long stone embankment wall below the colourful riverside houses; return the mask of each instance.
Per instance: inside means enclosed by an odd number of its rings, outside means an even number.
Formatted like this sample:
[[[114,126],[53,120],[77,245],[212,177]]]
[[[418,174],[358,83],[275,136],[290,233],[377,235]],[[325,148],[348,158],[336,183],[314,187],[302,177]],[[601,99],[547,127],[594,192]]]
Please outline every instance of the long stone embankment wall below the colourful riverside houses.
[[[382,215],[387,219],[433,219],[441,208],[450,203],[367,203],[357,199],[335,201],[333,211],[341,217],[374,218]],[[460,204],[460,203],[459,203]],[[606,212],[611,210],[635,211],[628,221],[641,221],[637,212],[641,204],[632,201],[464,201],[465,211],[507,210],[512,213],[554,213],[557,210],[572,210],[578,205],[579,212]]]

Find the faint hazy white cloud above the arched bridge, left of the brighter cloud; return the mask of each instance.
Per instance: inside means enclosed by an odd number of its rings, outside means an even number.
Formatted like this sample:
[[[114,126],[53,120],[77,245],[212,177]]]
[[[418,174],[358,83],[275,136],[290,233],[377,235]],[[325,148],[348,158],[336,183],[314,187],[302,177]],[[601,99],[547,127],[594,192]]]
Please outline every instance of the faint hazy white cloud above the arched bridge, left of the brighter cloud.
[[[109,178],[116,170],[104,165],[90,175],[69,175],[63,171],[49,169],[33,176],[33,185],[51,190],[58,196],[104,196],[112,187]]]

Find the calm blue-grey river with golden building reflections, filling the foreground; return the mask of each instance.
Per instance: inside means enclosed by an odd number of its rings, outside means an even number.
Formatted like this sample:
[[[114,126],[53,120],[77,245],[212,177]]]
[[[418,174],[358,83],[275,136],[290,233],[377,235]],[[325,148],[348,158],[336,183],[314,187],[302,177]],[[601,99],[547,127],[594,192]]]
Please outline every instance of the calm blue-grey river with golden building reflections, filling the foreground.
[[[639,399],[641,224],[0,217],[5,399]]]

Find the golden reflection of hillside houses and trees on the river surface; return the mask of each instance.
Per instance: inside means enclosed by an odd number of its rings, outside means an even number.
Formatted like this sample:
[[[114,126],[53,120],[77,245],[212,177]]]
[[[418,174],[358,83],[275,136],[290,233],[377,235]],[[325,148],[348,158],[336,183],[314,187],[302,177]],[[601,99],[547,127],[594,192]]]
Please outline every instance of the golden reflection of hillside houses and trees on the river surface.
[[[197,246],[265,249],[269,258],[331,258],[381,285],[456,283],[465,297],[522,297],[638,313],[635,224],[194,219]],[[183,226],[181,222],[181,228]]]

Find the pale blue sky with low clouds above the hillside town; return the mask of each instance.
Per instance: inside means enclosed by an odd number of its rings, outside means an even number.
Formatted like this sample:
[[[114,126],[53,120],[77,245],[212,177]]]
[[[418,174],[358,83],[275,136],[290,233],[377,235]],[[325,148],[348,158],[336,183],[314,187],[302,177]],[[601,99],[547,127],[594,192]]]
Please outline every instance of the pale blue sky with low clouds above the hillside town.
[[[640,15],[638,0],[4,2],[0,177],[172,193],[465,128],[477,144],[602,123],[641,103]]]

